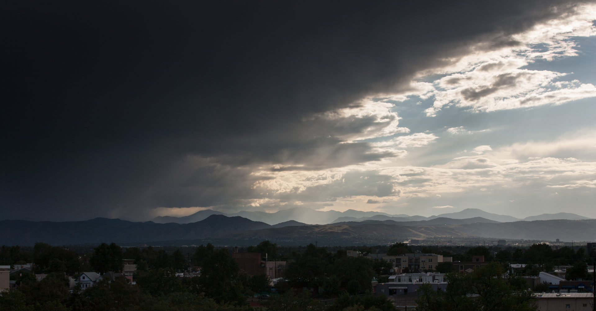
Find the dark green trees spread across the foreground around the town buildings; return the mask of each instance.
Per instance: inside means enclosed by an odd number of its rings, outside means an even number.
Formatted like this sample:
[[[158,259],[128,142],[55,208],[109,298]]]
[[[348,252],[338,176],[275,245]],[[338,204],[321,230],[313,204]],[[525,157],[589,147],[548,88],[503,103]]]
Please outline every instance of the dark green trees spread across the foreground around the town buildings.
[[[190,249],[188,249],[190,250]],[[205,244],[184,253],[182,249],[165,250],[156,247],[127,247],[101,243],[90,252],[77,253],[73,249],[37,243],[33,247],[2,246],[0,265],[35,263],[33,272],[48,274],[37,281],[33,274],[11,276],[18,288],[0,297],[1,310],[248,310],[247,298],[268,293],[263,302],[268,310],[393,310],[384,296],[368,292],[373,279],[386,281],[391,264],[370,260],[364,256],[347,256],[347,250],[358,250],[361,255],[387,253],[402,255],[423,252],[452,256],[454,260],[468,261],[482,255],[491,265],[477,269],[473,274],[449,273],[451,263],[437,266],[448,274],[445,293],[421,288],[418,303],[423,310],[489,310],[492,305],[524,305],[527,292],[524,284],[511,278],[492,278],[507,271],[508,263],[526,263],[519,274],[535,275],[536,271],[552,272],[557,265],[574,265],[567,271],[572,277],[587,277],[591,258],[583,247],[562,247],[552,250],[546,244],[527,248],[514,247],[417,247],[396,243],[387,246],[283,247],[270,241],[241,251],[261,253],[269,259],[287,260],[284,281],[271,288],[265,275],[241,274],[238,263],[232,259],[231,249]],[[122,259],[132,259],[137,265],[136,285],[120,277],[104,279],[97,285],[80,291],[69,290],[67,276],[80,272],[122,270]],[[200,269],[198,277],[178,277],[176,272]],[[575,269],[575,270],[574,270]],[[513,275],[512,275],[513,277]],[[490,293],[501,293],[500,296]],[[508,296],[502,293],[515,293]],[[477,295],[480,299],[470,300]],[[484,295],[484,296],[483,296]],[[486,296],[486,297],[485,297]],[[331,304],[321,301],[334,299]],[[476,301],[476,302],[474,302]],[[479,306],[484,301],[487,306]],[[522,310],[522,309],[520,309]]]

